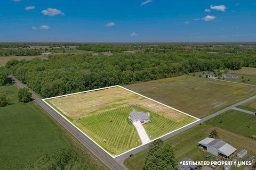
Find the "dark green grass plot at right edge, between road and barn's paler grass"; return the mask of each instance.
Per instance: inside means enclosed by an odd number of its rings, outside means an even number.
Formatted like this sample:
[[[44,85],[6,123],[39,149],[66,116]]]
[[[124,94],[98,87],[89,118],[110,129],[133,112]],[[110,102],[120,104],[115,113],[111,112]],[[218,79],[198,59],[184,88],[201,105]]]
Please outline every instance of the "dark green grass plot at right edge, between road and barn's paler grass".
[[[256,137],[256,116],[251,114],[230,110],[207,123],[245,137],[252,135]]]

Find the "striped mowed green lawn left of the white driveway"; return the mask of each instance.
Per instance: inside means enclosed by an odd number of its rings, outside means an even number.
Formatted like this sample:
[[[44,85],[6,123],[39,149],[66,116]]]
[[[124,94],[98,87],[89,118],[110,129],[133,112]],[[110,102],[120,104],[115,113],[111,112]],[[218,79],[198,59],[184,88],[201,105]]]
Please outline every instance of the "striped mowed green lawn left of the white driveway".
[[[141,145],[135,127],[129,122],[131,111],[132,107],[122,107],[74,122],[110,154],[119,155]]]

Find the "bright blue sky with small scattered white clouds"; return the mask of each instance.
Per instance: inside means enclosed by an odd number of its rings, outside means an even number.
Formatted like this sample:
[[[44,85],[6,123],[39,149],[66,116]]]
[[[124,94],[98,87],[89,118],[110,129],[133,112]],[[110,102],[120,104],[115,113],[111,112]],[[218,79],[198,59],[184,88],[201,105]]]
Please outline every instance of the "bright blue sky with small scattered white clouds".
[[[0,41],[256,41],[256,1],[1,0]]]

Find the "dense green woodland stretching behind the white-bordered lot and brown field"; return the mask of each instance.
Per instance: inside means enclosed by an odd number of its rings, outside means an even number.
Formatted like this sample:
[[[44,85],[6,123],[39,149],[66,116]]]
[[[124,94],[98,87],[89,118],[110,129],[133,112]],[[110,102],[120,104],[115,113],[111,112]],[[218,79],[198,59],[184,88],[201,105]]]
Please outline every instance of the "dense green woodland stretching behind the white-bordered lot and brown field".
[[[204,52],[51,55],[49,60],[11,60],[5,67],[43,97],[169,78],[190,72],[256,67],[256,56]],[[4,72],[4,71],[3,71]],[[1,79],[0,70],[0,79]],[[4,81],[4,80],[0,80]]]

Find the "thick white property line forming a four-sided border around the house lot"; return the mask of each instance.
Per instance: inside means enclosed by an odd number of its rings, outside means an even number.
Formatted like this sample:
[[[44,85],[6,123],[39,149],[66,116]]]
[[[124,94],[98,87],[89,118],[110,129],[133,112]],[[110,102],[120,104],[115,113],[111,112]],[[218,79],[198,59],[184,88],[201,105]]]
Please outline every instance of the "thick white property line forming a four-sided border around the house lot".
[[[149,99],[149,100],[151,100],[151,101],[154,101],[154,102],[156,102],[156,103],[158,103],[158,104],[160,104],[160,105],[163,105],[163,106],[165,106],[165,107],[171,108],[171,109],[173,109],[173,110],[175,110],[175,111],[178,111],[178,112],[180,112],[180,113],[182,113],[182,114],[185,114],[185,115],[188,115],[188,116],[190,116],[190,117],[193,117],[193,118],[196,119],[196,121],[194,121],[194,122],[192,122],[192,123],[189,123],[189,124],[187,124],[187,125],[185,125],[185,126],[182,126],[181,128],[176,129],[176,130],[174,130],[174,131],[171,131],[171,132],[169,132],[169,133],[166,133],[166,134],[162,135],[161,137],[158,137],[158,138],[156,138],[156,139],[154,139],[154,140],[151,140],[151,141],[149,141],[149,142],[147,142],[147,143],[144,143],[143,145],[140,145],[140,146],[138,146],[138,147],[135,147],[135,148],[132,148],[132,149],[130,149],[130,150],[127,150],[127,151],[123,152],[122,154],[113,156],[113,155],[109,154],[109,152],[106,151],[104,148],[102,148],[97,142],[94,142],[94,140],[93,140],[92,138],[90,138],[87,134],[85,134],[82,130],[80,130],[79,128],[77,128],[77,126],[76,126],[75,124],[73,124],[72,122],[70,122],[64,115],[62,115],[59,111],[57,111],[57,109],[55,109],[55,108],[52,107],[49,103],[46,102],[46,100],[49,100],[49,99],[54,99],[54,98],[59,98],[59,97],[65,97],[65,96],[71,96],[71,95],[77,95],[77,94],[83,94],[83,93],[86,93],[86,92],[98,91],[98,90],[109,89],[109,88],[114,88],[114,87],[119,87],[119,88],[122,88],[122,89],[124,89],[124,90],[130,91],[130,92],[132,92],[133,94],[136,94],[136,95],[139,95],[139,96],[141,96],[141,97],[147,98],[147,99]],[[160,103],[159,101],[156,101],[156,100],[151,99],[151,98],[149,98],[149,97],[143,96],[143,95],[141,95],[141,94],[138,94],[137,92],[134,92],[134,91],[132,91],[132,90],[126,89],[126,88],[124,88],[124,87],[122,87],[122,86],[119,86],[119,85],[110,86],[110,87],[105,87],[105,88],[99,88],[99,89],[93,89],[93,90],[87,90],[87,91],[81,91],[81,92],[76,92],[76,93],[74,93],[74,94],[55,96],[55,97],[45,98],[45,99],[42,99],[42,100],[44,101],[44,103],[45,103],[46,105],[48,105],[49,107],[51,107],[55,112],[57,112],[59,115],[61,115],[63,118],[65,118],[66,121],[68,121],[71,125],[73,125],[77,130],[79,130],[80,132],[82,132],[87,138],[89,138],[93,143],[95,143],[98,147],[100,147],[102,150],[104,150],[104,151],[105,151],[109,156],[111,156],[112,158],[117,158],[117,157],[119,157],[119,156],[121,156],[121,155],[126,154],[127,152],[130,152],[130,151],[132,151],[132,150],[134,150],[134,149],[137,149],[137,148],[139,148],[139,147],[142,147],[142,146],[144,146],[144,145],[147,145],[147,144],[150,143],[150,142],[153,142],[153,141],[155,141],[155,140],[157,140],[157,139],[160,139],[160,138],[162,138],[162,137],[165,137],[166,135],[169,135],[169,134],[171,134],[171,133],[173,133],[173,132],[175,132],[175,131],[178,131],[178,130],[180,130],[180,129],[182,129],[182,128],[185,128],[186,126],[189,126],[189,125],[191,125],[191,124],[194,124],[194,123],[200,121],[200,119],[197,118],[197,117],[195,117],[195,116],[192,116],[192,115],[189,115],[189,114],[187,114],[187,113],[185,113],[185,112],[179,111],[178,109],[175,109],[175,108],[173,108],[173,107],[167,106],[167,105],[165,105],[165,104],[163,104],[163,103]]]

